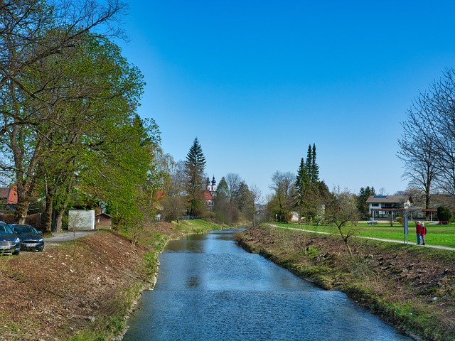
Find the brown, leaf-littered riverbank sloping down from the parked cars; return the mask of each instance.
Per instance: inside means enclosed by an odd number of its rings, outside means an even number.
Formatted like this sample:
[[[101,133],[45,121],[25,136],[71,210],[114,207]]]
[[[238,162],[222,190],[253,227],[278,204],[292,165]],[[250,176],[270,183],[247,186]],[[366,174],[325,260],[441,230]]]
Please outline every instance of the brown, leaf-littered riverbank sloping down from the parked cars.
[[[204,221],[159,223],[132,245],[102,231],[43,252],[0,257],[0,340],[112,340],[144,288],[153,285],[157,254],[169,239],[206,232]],[[129,232],[125,232],[129,234]]]

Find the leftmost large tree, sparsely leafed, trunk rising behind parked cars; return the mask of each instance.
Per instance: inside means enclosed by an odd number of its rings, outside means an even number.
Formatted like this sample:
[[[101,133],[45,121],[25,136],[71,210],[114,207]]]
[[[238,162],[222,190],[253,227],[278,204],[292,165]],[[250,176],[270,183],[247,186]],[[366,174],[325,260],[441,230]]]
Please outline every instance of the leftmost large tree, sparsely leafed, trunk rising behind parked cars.
[[[50,6],[46,1],[19,0],[0,5],[0,171],[17,185],[18,222],[24,222],[43,178],[43,141],[49,141],[52,134],[45,122],[57,126],[58,115],[65,112],[60,100],[68,100],[68,94],[60,91],[61,69],[53,63],[70,57],[80,39],[123,9],[119,1]],[[50,82],[42,82],[46,72]]]

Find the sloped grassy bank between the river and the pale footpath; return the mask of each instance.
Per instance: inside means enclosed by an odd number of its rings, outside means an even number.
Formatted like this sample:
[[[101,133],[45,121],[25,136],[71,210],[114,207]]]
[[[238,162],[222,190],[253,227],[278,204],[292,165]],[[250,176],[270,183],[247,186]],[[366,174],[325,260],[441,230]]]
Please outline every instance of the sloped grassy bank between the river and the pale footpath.
[[[261,254],[359,305],[416,340],[455,340],[455,252],[263,225],[237,235]]]

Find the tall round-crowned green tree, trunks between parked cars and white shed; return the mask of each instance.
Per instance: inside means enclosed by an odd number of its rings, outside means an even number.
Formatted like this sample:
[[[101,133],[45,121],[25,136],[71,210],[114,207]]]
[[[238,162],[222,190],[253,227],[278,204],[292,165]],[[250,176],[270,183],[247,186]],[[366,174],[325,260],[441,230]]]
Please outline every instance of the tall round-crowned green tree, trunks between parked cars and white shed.
[[[55,208],[61,215],[68,205],[75,180],[83,183],[84,170],[92,168],[102,152],[112,153],[114,148],[118,148],[112,144],[122,144],[124,151],[121,150],[121,153],[129,153],[132,160],[130,167],[137,168],[137,164],[151,162],[153,154],[142,154],[146,146],[156,143],[155,131],[153,134],[147,132],[147,129],[154,129],[154,124],[146,127],[145,122],[134,115],[143,88],[139,70],[131,67],[117,45],[106,38],[90,35],[84,38],[68,58],[53,63],[54,68],[60,66],[61,69],[62,76],[54,79],[60,85],[55,88],[63,89],[63,93],[58,94],[62,99],[59,105],[49,109],[55,111],[55,119],[40,126],[40,131],[47,136],[42,142],[45,148],[40,163],[45,177],[45,232],[50,232],[55,193],[60,188],[60,205]],[[46,72],[42,77],[46,79],[49,74],[52,75]],[[51,80],[47,82],[51,83]],[[58,90],[53,94],[56,92]],[[135,135],[124,136],[125,131]],[[134,144],[129,145],[132,141]],[[134,159],[138,153],[134,148],[141,149],[139,154],[143,160]],[[117,156],[107,158],[112,163],[106,163],[106,166],[115,167]],[[115,180],[120,179],[122,177]]]

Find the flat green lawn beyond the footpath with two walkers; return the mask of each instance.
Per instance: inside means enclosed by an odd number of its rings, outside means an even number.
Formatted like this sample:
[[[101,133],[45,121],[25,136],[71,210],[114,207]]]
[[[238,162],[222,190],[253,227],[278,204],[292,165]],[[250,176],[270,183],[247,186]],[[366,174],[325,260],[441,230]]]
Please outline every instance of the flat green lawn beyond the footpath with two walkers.
[[[277,225],[283,227],[294,227],[301,229],[309,229],[311,231],[338,233],[335,225],[319,225],[314,224],[284,224],[278,223]],[[444,247],[455,247],[455,224],[451,225],[432,225],[426,223],[428,233],[425,236],[427,244],[441,245]],[[402,241],[404,237],[402,225],[395,223],[393,227],[390,223],[379,223],[378,225],[368,225],[366,222],[360,222],[354,227],[358,229],[358,235],[362,237],[373,237],[383,239],[393,239]],[[410,222],[408,240],[410,243],[416,243],[417,237],[415,234],[415,224]]]

